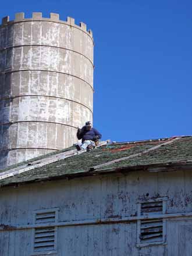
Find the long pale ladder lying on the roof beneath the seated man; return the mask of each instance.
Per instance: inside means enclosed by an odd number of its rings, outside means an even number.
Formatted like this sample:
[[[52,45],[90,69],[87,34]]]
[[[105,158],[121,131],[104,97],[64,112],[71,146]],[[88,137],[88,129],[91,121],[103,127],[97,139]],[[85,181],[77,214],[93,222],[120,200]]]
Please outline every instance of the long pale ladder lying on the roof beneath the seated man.
[[[106,145],[108,143],[109,143],[109,140],[102,141],[101,143],[99,143],[97,145],[96,148],[101,147],[102,145]],[[49,163],[54,163],[54,162],[60,161],[65,158],[73,157],[74,155],[80,155],[80,154],[83,154],[84,152],[87,152],[87,150],[81,150],[81,151],[69,150],[69,151],[61,152],[54,156],[51,155],[48,158],[43,158],[41,160],[35,160],[34,162],[33,161],[28,162],[22,166],[18,166],[16,168],[6,170],[5,172],[0,173],[0,180],[5,179],[10,176],[19,175],[20,173],[27,172],[27,171],[33,170],[35,168],[39,168],[39,167],[48,165]]]

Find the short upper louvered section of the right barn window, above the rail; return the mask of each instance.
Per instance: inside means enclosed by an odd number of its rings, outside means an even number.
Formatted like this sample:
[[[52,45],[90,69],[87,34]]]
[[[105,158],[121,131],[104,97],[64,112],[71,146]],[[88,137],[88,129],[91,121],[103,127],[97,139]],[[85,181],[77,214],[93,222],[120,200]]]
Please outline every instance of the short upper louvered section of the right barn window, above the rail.
[[[141,215],[144,214],[162,214],[163,211],[163,202],[143,202],[141,204]]]

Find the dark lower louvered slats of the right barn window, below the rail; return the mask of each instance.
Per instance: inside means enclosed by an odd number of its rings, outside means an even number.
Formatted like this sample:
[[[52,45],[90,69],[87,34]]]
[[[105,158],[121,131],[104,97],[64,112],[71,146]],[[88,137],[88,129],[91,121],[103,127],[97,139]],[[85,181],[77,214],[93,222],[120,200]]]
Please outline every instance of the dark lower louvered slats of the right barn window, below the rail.
[[[141,221],[140,242],[150,243],[163,241],[163,220],[150,219]]]

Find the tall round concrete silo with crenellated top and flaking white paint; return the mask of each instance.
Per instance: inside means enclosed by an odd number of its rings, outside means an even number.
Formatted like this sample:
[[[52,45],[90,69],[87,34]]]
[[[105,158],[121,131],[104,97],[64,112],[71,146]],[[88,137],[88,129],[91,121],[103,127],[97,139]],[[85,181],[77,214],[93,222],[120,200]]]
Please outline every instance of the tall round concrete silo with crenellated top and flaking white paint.
[[[93,119],[93,35],[51,13],[2,19],[0,169],[77,141]]]

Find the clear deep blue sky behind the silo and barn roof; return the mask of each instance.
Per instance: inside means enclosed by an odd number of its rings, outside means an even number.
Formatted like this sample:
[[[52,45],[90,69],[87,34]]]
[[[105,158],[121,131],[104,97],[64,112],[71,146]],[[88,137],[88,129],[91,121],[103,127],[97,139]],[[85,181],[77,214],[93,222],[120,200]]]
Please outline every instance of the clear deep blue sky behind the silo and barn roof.
[[[56,12],[93,30],[94,126],[103,139],[192,134],[191,0],[1,3],[1,17],[16,12]]]

